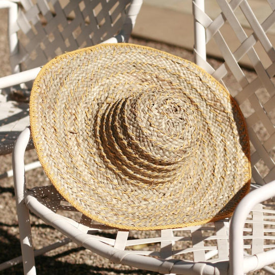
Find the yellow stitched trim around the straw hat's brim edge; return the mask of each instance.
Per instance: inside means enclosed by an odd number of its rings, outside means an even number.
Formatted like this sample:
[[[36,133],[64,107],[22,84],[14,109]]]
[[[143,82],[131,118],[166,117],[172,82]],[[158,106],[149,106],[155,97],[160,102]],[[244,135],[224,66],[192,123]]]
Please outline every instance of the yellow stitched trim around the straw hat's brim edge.
[[[248,168],[248,173],[246,174],[246,178],[247,178],[247,182],[245,184],[245,189],[243,190],[243,194],[242,196],[240,196],[241,198],[243,198],[246,194],[249,193],[249,190],[250,190],[250,183],[251,183],[251,156],[250,156],[250,143],[249,143],[249,138],[248,138],[248,129],[247,129],[247,126],[245,124],[245,119],[243,117],[243,114],[240,110],[240,107],[238,106],[238,104],[236,103],[235,99],[230,95],[230,93],[223,87],[223,85],[221,83],[219,83],[212,75],[210,75],[209,73],[207,73],[205,70],[203,70],[202,68],[200,68],[198,65],[196,65],[195,63],[193,62],[190,62],[188,60],[185,60],[185,59],[182,59],[180,57],[177,57],[177,56],[174,56],[174,54],[171,54],[171,53],[168,53],[168,52],[165,52],[165,51],[161,51],[161,50],[157,50],[157,49],[154,49],[154,48],[151,48],[151,47],[148,47],[148,46],[140,46],[140,45],[135,45],[135,44],[130,44],[130,43],[116,43],[116,44],[99,44],[99,45],[95,45],[95,46],[91,46],[91,47],[87,47],[87,48],[82,48],[82,49],[77,49],[77,50],[74,50],[74,51],[71,51],[71,52],[66,52],[66,53],[63,53],[61,54],[61,56],[58,56],[54,59],[52,59],[51,61],[49,61],[45,66],[43,66],[43,68],[40,70],[40,72],[38,73],[35,81],[34,81],[34,84],[33,84],[33,89],[32,89],[32,92],[31,92],[31,97],[30,97],[30,124],[31,124],[31,133],[32,133],[32,136],[35,137],[36,134],[37,134],[37,130],[36,128],[34,127],[35,125],[35,120],[36,120],[36,117],[38,116],[38,114],[36,114],[36,112],[34,111],[34,100],[36,98],[36,96],[39,96],[38,95],[38,91],[37,91],[37,86],[39,85],[41,79],[42,79],[42,76],[44,76],[44,74],[49,71],[51,69],[51,67],[55,64],[58,64],[60,60],[65,60],[67,57],[72,57],[74,56],[74,54],[76,53],[80,53],[80,52],[96,52],[98,51],[99,49],[101,48],[107,48],[107,47],[117,47],[117,48],[122,48],[122,47],[135,47],[135,48],[140,48],[140,49],[147,49],[147,50],[150,50],[151,52],[159,52],[163,55],[166,55],[167,57],[172,57],[173,59],[178,59],[178,60],[181,60],[181,61],[184,61],[186,62],[187,64],[195,67],[198,71],[200,71],[204,76],[207,76],[210,78],[210,80],[212,80],[213,82],[215,82],[218,90],[220,92],[222,92],[225,96],[228,97],[228,99],[231,100],[231,102],[234,104],[234,107],[236,107],[236,110],[239,112],[241,118],[242,118],[242,127],[244,127],[245,129],[245,132],[246,132],[246,136],[247,136],[247,139],[245,140],[246,144],[248,145],[247,146],[247,152],[244,152],[246,157],[248,157],[248,160],[249,160],[249,166],[247,167]],[[69,202],[71,203],[79,212],[87,215],[88,217],[94,219],[95,221],[99,222],[99,223],[102,223],[102,224],[105,224],[107,226],[111,226],[111,227],[114,227],[114,228],[119,228],[119,229],[126,229],[126,230],[160,230],[160,229],[172,229],[172,228],[180,228],[180,227],[188,227],[188,226],[196,226],[196,225],[202,225],[202,224],[205,224],[205,223],[208,223],[208,222],[215,222],[215,221],[218,221],[219,219],[223,219],[223,218],[227,218],[227,217],[230,217],[232,216],[233,214],[233,211],[231,210],[228,210],[227,212],[224,212],[223,214],[221,215],[216,215],[215,217],[213,218],[209,218],[209,219],[205,219],[205,220],[201,220],[199,222],[194,222],[194,223],[185,223],[185,224],[176,224],[176,225],[167,225],[167,226],[154,226],[154,227],[133,227],[133,226],[121,226],[121,225],[117,225],[117,224],[114,224],[114,223],[108,223],[106,221],[104,221],[103,219],[101,219],[100,217],[98,216],[93,216],[91,215],[89,212],[87,211],[84,211],[80,206],[78,205],[75,205],[74,204],[74,201],[72,201],[70,199],[69,196],[66,196],[62,189],[59,187],[58,183],[55,182],[55,180],[53,179],[53,177],[51,176],[51,173],[50,173],[50,168],[47,166],[47,163],[45,163],[45,161],[43,160],[43,158],[41,157],[40,155],[40,151],[42,150],[41,146],[39,146],[39,144],[37,144],[37,141],[35,139],[33,139],[34,141],[34,145],[35,145],[35,148],[36,148],[36,151],[37,151],[37,154],[38,154],[38,158],[39,158],[39,161],[47,175],[47,177],[49,178],[49,180],[51,181],[51,183],[54,185],[54,187],[56,187],[56,189],[59,191],[59,193]],[[238,202],[235,203],[234,207],[237,205]]]

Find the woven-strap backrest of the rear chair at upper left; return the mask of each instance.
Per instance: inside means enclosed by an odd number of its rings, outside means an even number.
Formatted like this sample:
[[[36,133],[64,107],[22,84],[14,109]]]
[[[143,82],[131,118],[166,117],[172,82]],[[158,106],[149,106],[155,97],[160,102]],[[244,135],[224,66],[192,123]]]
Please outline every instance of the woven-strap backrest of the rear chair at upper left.
[[[10,42],[12,71],[39,67],[65,51],[101,43],[122,29],[127,40],[141,3],[140,0],[21,0],[18,11],[10,16],[10,37],[16,33]],[[130,11],[131,6],[134,12]]]

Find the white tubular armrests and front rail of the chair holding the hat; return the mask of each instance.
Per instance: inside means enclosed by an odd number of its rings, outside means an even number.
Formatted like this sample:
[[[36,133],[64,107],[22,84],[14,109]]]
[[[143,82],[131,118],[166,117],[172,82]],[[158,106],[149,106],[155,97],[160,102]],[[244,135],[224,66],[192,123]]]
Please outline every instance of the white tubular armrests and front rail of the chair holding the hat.
[[[242,275],[251,270],[264,268],[266,265],[274,262],[275,249],[250,257],[243,257],[243,229],[250,211],[252,211],[258,203],[275,196],[275,180],[251,191],[241,200],[235,209],[229,228],[229,261],[221,262],[220,265],[214,265],[205,262],[191,263],[169,259],[154,259],[143,255],[133,254],[132,251],[122,251],[116,248],[115,243],[113,243],[114,247],[104,243],[104,241],[100,240],[96,235],[93,235],[93,233],[96,233],[98,230],[109,228],[104,226],[98,227],[98,225],[95,226],[95,228],[90,228],[73,220],[68,220],[66,217],[54,213],[39,202],[37,200],[39,196],[34,194],[32,190],[27,191],[24,177],[24,148],[28,145],[29,139],[30,129],[26,128],[18,137],[13,151],[16,206],[25,274],[36,274],[31,225],[29,223],[29,209],[38,215],[46,224],[62,232],[77,245],[84,246],[86,249],[112,262],[136,268],[141,268],[142,263],[143,269],[163,274],[189,274],[187,270],[190,270],[190,274],[197,274],[196,272],[199,270],[202,274],[216,274],[216,272],[221,272],[221,270],[227,270],[229,268],[230,275]],[[42,192],[44,192],[44,190]],[[128,231],[118,230],[117,236],[120,234],[127,235]],[[123,240],[123,236],[121,240]],[[116,242],[119,243],[119,241],[120,237],[117,237]],[[64,240],[64,242],[66,243],[66,240]],[[271,271],[269,268],[266,270]]]

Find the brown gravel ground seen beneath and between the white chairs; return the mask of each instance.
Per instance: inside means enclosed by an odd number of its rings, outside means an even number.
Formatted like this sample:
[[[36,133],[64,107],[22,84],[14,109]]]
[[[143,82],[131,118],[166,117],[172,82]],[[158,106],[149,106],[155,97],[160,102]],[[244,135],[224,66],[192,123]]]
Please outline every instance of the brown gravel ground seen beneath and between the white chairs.
[[[4,76],[10,73],[7,50],[8,44],[5,37],[7,31],[7,26],[5,25],[5,22],[7,21],[6,11],[0,10],[0,21],[0,76]],[[130,42],[161,49],[173,53],[176,56],[193,61],[193,54],[179,47],[137,38],[131,38]],[[219,64],[216,60],[210,60],[210,63],[214,67]],[[251,75],[251,77],[254,75],[253,72],[248,71],[247,73],[248,75]],[[228,82],[231,88],[238,88],[233,77],[229,77]],[[36,159],[37,157],[34,150],[26,153],[26,162]],[[11,155],[0,156],[0,163],[0,174],[11,169]],[[28,181],[28,187],[49,183],[42,169],[28,172],[26,174],[26,179]],[[20,255],[20,241],[12,178],[1,180],[0,202],[0,262],[3,262]],[[62,238],[60,233],[57,233],[51,227],[44,225],[43,222],[34,215],[31,216],[31,223],[33,225],[34,244],[36,248],[41,248],[44,242],[51,241],[54,238]],[[83,248],[79,248],[73,243],[69,243],[63,248],[47,253],[44,256],[37,257],[36,265],[38,274],[157,274],[110,263],[108,260]],[[13,268],[5,270],[1,274],[21,274],[22,272],[22,265],[19,264]],[[257,274],[264,274],[264,272],[257,272]]]

